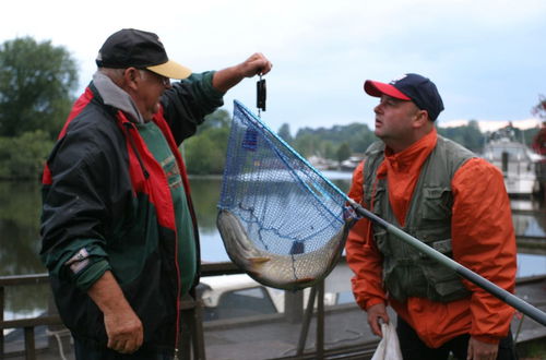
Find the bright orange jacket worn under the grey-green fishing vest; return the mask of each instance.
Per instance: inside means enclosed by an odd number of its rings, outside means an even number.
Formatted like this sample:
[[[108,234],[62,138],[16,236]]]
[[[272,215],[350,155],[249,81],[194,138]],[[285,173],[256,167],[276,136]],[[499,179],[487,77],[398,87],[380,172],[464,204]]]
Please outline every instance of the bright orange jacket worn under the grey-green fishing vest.
[[[383,170],[378,172],[387,172],[388,187],[394,189],[389,193],[389,201],[399,219],[405,218],[422,165],[436,146],[436,140],[437,133],[432,131],[401,153],[385,151]],[[348,193],[359,203],[364,163],[356,168]],[[451,187],[453,260],[513,292],[515,237],[502,175],[484,159],[472,158],[455,172]],[[363,205],[368,208],[368,204]],[[382,287],[382,255],[371,232],[370,221],[363,218],[349,231],[346,243],[347,263],[355,273],[353,292],[363,309],[389,302],[432,348],[466,333],[491,344],[507,336],[514,310],[464,279],[463,284],[472,291],[470,298],[448,303],[426,298],[408,298],[404,303],[389,299]]]

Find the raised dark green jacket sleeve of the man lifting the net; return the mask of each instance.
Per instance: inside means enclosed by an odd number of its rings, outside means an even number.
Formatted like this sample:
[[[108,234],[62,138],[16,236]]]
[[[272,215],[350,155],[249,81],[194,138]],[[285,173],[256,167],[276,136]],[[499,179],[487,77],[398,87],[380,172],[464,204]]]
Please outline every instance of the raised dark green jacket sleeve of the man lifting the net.
[[[206,115],[224,105],[224,93],[212,86],[213,76],[214,71],[191,74],[163,95],[163,115],[178,146],[195,133]]]

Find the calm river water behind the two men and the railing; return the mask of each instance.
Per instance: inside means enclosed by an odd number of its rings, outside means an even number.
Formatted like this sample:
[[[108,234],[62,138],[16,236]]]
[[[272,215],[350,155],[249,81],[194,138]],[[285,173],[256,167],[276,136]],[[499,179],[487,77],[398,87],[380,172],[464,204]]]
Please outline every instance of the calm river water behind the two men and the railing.
[[[351,183],[348,172],[323,172],[342,191]],[[202,260],[228,261],[216,229],[219,177],[190,178],[201,237]],[[0,182],[0,276],[45,273],[38,257],[40,188],[34,182]],[[546,237],[546,207],[531,200],[513,201],[518,235]],[[520,249],[518,276],[546,274],[546,255]],[[5,319],[28,316],[47,308],[47,287],[21,287],[7,291]]]

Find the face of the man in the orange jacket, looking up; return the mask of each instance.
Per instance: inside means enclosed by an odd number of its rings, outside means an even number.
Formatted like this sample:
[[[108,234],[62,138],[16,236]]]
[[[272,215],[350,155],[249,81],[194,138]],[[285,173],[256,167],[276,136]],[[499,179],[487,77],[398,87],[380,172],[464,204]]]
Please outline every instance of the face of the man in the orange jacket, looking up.
[[[387,95],[373,109],[376,112],[375,134],[387,145],[404,147],[413,141],[413,120],[419,108],[408,100],[401,100]]]

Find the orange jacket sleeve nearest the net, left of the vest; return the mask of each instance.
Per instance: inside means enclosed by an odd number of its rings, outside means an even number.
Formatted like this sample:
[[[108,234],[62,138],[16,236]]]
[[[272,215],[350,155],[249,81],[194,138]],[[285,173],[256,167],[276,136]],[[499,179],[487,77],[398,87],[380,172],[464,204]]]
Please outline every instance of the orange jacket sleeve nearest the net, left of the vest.
[[[353,173],[348,196],[363,204],[364,163]],[[368,207],[368,204],[363,204]],[[382,256],[377,249],[371,230],[371,221],[359,219],[349,230],[345,244],[347,264],[355,274],[351,279],[353,293],[360,308],[367,310],[377,303],[387,303],[382,287]]]

